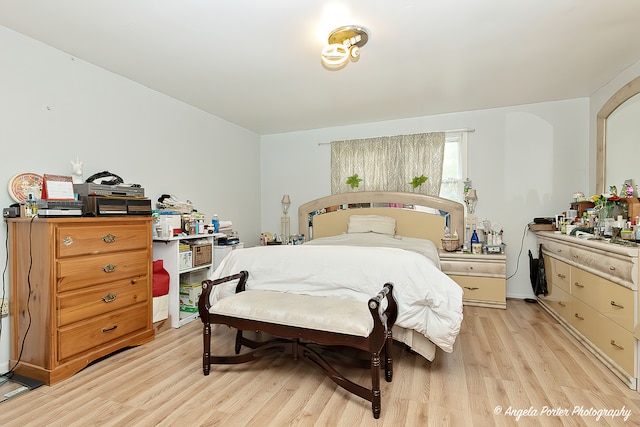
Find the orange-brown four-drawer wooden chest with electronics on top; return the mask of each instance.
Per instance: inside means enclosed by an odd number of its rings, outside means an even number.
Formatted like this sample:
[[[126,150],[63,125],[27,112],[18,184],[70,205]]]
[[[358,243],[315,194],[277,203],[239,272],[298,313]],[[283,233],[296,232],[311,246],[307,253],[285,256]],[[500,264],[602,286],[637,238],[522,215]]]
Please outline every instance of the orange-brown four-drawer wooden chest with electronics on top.
[[[16,218],[8,226],[17,373],[51,385],[153,339],[151,218]]]

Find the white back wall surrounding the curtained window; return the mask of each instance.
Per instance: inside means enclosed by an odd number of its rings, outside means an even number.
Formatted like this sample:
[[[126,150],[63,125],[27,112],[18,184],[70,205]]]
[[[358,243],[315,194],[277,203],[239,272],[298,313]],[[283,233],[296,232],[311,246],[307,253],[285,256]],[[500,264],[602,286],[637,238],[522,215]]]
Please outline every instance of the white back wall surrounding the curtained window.
[[[330,146],[318,143],[475,129],[468,172],[478,191],[476,212],[504,228],[507,276],[513,275],[507,295],[530,297],[527,251],[537,250],[526,225],[569,209],[575,191],[589,192],[588,114],[583,98],[262,136],[262,229],[279,230],[283,194],[291,196],[297,230],[298,206],[330,193]]]

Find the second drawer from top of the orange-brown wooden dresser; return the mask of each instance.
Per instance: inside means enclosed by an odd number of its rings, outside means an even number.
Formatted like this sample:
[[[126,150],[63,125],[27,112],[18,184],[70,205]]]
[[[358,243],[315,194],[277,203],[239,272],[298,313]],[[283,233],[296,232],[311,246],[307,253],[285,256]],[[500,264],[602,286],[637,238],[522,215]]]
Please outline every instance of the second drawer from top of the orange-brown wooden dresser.
[[[146,276],[150,270],[147,251],[75,257],[57,262],[58,292],[86,288],[125,278]]]

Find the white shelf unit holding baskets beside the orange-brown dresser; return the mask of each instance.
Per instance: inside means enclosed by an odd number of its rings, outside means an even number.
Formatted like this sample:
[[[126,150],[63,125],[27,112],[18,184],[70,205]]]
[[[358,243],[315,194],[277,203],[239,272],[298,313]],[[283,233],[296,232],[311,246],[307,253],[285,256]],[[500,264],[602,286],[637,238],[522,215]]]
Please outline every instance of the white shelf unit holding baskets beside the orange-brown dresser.
[[[180,241],[186,240],[206,240],[212,246],[214,244],[215,235],[213,234],[194,234],[188,236],[175,236],[172,238],[154,238],[153,239],[153,260],[163,260],[165,270],[169,272],[169,316],[171,318],[171,327],[179,328],[198,318],[198,313],[187,313],[180,311],[180,283],[183,276],[188,275],[185,282],[196,283],[206,279],[211,273],[213,263],[199,265],[197,267],[180,269]],[[213,246],[215,248],[215,246]],[[212,248],[212,259],[213,259]]]

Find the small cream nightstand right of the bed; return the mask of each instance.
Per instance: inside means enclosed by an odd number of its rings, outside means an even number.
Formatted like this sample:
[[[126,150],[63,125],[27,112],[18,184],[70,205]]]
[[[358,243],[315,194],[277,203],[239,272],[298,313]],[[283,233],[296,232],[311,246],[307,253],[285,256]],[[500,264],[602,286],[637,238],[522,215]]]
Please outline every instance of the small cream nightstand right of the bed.
[[[507,308],[507,257],[440,251],[440,268],[464,291],[465,305]]]

